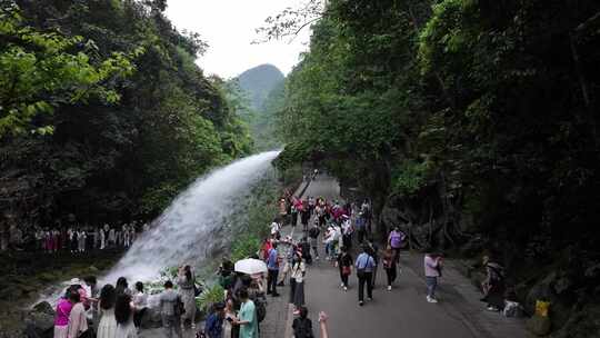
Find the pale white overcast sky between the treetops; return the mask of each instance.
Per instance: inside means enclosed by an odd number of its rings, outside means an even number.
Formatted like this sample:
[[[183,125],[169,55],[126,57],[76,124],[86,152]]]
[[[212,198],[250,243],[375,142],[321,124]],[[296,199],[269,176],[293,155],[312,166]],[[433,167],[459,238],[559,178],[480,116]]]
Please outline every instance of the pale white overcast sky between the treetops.
[[[291,43],[276,41],[251,44],[258,36],[254,29],[264,19],[302,0],[169,0],[167,16],[178,30],[201,34],[209,49],[197,63],[204,73],[222,78],[238,76],[262,63],[272,63],[286,74],[298,63],[301,51],[308,49],[309,29]]]

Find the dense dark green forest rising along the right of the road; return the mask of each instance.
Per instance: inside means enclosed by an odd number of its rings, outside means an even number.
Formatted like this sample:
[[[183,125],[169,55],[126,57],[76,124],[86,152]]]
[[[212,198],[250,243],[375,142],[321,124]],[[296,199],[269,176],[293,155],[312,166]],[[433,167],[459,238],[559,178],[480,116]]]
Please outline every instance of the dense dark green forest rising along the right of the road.
[[[417,250],[491,252],[556,337],[599,331],[600,2],[311,1],[288,77],[280,167],[320,161]]]

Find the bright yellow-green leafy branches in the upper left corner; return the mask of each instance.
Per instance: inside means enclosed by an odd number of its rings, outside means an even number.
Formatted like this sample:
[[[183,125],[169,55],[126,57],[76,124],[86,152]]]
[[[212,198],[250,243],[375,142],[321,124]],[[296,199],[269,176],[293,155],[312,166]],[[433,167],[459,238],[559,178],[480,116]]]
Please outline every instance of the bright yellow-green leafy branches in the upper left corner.
[[[29,131],[48,133],[52,126],[30,126],[39,113],[60,103],[98,98],[116,103],[120,96],[103,83],[131,74],[131,59],[143,52],[112,52],[91,60],[93,42],[27,26],[10,1],[0,7],[0,138]]]

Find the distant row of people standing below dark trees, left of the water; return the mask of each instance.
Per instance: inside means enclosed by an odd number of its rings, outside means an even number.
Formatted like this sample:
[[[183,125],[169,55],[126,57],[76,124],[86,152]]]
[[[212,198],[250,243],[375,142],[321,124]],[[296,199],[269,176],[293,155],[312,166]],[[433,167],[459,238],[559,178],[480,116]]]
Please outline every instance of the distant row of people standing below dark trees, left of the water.
[[[26,227],[11,225],[7,233],[7,249],[47,254],[81,254],[90,250],[126,249],[138,235],[148,229],[148,223],[131,221],[102,226],[57,223],[52,227]]]

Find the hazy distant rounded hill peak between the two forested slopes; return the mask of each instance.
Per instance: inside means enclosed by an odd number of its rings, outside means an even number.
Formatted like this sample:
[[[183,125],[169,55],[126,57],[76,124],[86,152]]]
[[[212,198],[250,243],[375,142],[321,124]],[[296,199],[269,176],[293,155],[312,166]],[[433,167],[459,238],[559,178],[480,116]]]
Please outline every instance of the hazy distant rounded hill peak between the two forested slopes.
[[[238,84],[248,96],[250,108],[260,111],[271,90],[284,79],[283,73],[272,64],[261,64],[242,72]]]

